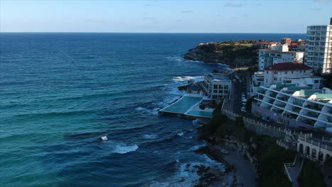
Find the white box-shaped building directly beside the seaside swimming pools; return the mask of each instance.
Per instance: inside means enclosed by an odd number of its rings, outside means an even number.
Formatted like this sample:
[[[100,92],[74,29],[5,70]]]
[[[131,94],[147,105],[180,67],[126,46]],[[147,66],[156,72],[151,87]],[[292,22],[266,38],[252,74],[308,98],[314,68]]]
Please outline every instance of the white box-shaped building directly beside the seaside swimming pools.
[[[201,87],[204,93],[211,99],[220,101],[231,92],[232,81],[228,74],[205,74]]]

